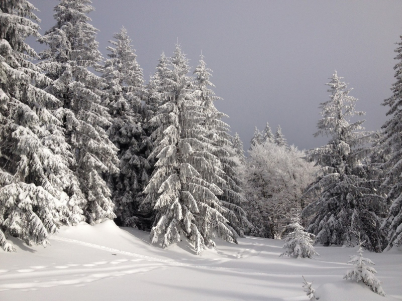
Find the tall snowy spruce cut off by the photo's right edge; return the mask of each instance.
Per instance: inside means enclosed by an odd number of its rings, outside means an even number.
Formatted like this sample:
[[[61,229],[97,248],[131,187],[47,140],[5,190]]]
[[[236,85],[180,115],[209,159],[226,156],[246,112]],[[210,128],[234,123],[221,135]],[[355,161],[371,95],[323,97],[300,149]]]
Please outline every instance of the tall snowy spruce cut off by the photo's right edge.
[[[402,40],[402,36],[400,36]],[[387,200],[391,203],[389,212],[384,220],[382,229],[388,233],[388,246],[402,245],[402,41],[397,43],[395,49],[397,60],[393,67],[395,70],[395,83],[392,84],[392,96],[385,99],[383,105],[389,106],[386,113],[390,119],[382,126],[384,129],[384,139],[381,143],[382,148],[391,150],[390,158],[385,166],[388,169],[383,187],[390,187]]]

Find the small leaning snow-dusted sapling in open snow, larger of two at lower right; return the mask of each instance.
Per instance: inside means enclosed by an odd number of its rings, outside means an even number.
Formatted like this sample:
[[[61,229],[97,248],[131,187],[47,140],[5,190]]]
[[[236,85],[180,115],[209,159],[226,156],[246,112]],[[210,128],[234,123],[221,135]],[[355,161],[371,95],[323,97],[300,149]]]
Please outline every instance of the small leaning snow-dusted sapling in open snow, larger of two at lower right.
[[[356,282],[363,281],[372,291],[381,296],[385,296],[385,292],[381,287],[381,281],[375,277],[377,271],[368,264],[374,264],[370,259],[363,257],[363,242],[359,241],[359,255],[352,255],[347,263],[355,265],[354,269],[348,270],[343,276],[344,279],[352,279]]]

